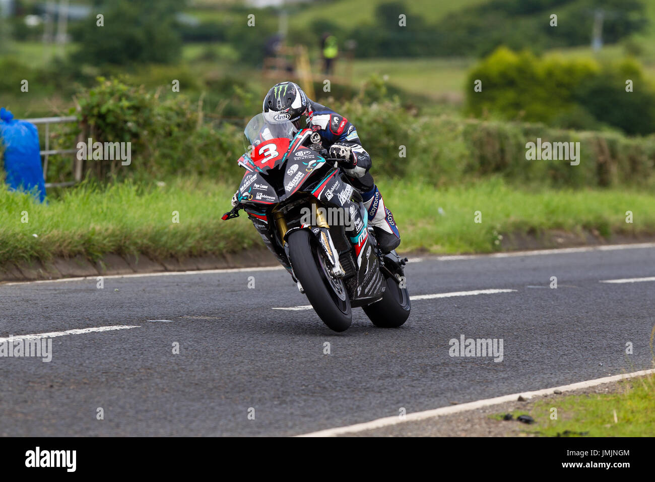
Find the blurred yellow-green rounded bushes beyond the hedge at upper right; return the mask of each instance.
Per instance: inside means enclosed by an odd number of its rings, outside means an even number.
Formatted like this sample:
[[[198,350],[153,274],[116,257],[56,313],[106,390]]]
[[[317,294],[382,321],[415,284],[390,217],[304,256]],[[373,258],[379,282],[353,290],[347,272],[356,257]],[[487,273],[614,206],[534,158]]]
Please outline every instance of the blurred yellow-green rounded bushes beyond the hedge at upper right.
[[[481,92],[473,89],[477,79]],[[634,81],[635,92],[626,92],[626,79]],[[655,132],[655,89],[633,61],[601,66],[501,47],[470,71],[467,85],[466,109],[476,117],[491,113],[559,127],[606,124],[627,134]]]

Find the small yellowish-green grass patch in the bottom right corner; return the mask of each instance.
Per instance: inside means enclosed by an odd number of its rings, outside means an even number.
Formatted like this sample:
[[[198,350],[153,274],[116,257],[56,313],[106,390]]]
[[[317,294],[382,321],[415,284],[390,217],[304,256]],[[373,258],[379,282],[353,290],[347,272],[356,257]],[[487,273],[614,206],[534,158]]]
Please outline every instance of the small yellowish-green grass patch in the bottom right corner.
[[[551,419],[557,409],[557,419]],[[616,421],[614,412],[616,411]],[[514,411],[514,418],[525,411]],[[655,436],[655,376],[620,382],[614,393],[568,395],[539,400],[529,414],[535,424],[525,432],[544,437],[653,437]],[[500,420],[502,414],[494,416]],[[509,423],[509,422],[504,422]]]

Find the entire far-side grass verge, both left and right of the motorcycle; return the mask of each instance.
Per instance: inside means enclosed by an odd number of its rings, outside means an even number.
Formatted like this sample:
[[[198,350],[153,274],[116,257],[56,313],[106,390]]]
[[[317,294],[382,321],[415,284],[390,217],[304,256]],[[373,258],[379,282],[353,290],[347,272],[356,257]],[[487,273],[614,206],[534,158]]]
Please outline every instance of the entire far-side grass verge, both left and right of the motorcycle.
[[[630,190],[528,191],[485,180],[436,191],[432,186],[379,181],[402,232],[402,251],[491,252],[498,235],[581,228],[655,232],[655,195]],[[263,245],[246,216],[219,218],[236,186],[174,180],[159,187],[116,184],[64,191],[48,205],[0,188],[0,264],[83,254],[143,253],[156,258],[219,254]],[[441,207],[443,215],[437,210]],[[22,223],[22,212],[28,223]],[[179,224],[172,212],[179,212]],[[481,211],[482,222],[474,222]],[[625,223],[633,211],[635,224]],[[37,237],[34,237],[36,234]]]

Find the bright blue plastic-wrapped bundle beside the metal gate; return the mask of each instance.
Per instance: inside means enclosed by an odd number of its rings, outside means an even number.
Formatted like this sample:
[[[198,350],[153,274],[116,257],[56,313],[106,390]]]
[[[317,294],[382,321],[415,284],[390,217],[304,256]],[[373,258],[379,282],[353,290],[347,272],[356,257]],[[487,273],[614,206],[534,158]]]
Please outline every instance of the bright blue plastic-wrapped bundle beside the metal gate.
[[[31,191],[43,203],[45,183],[39,154],[39,132],[35,125],[14,119],[5,108],[0,109],[0,138],[2,138],[7,184],[12,190]]]

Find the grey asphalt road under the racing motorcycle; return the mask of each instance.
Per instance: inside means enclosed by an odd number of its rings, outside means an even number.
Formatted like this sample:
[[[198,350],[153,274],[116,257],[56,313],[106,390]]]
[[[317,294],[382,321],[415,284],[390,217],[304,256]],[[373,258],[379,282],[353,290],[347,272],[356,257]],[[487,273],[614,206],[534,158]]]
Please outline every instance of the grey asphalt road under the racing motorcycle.
[[[281,268],[0,285],[0,337],[133,327],[56,336],[49,363],[0,357],[0,435],[296,435],[652,368],[655,281],[599,281],[654,277],[654,247],[406,274],[412,295],[516,291],[413,300],[400,329],[357,309],[337,334],[273,309],[307,305]],[[451,357],[462,334],[502,338],[502,361]]]

